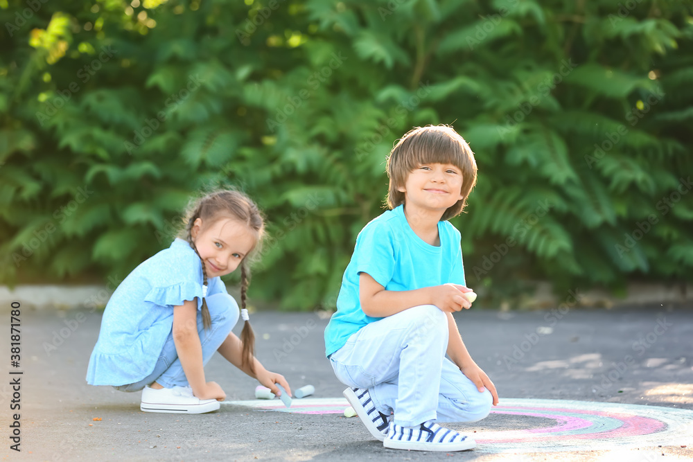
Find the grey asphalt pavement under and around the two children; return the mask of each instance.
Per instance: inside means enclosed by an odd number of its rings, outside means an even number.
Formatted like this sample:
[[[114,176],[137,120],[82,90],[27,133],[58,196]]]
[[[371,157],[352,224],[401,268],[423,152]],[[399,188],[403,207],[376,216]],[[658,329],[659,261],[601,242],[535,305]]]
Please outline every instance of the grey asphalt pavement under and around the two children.
[[[85,382],[101,312],[27,306],[21,307],[15,320],[10,307],[3,307],[0,315],[5,332],[0,357],[8,359],[3,359],[8,366],[3,367],[0,385],[3,461],[693,458],[693,441],[669,442],[662,447],[648,443],[627,450],[590,450],[586,441],[584,449],[567,452],[497,454],[484,445],[453,454],[404,452],[383,448],[370,438],[358,418],[337,414],[287,414],[227,404],[211,414],[146,414],[139,411],[140,393],[121,393]],[[501,405],[504,398],[540,398],[693,409],[693,305],[614,310],[564,305],[562,310],[531,312],[473,309],[457,313],[455,318],[472,357],[495,382]],[[313,384],[314,398],[342,396],[344,386],[324,357],[328,314],[256,312],[251,320],[256,355],[267,369],[283,374],[294,389]],[[9,361],[11,323],[19,323],[21,331],[18,367]],[[240,332],[240,326],[236,330]],[[211,359],[205,373],[207,380],[221,385],[227,400],[254,399],[257,382],[220,355]],[[12,410],[13,403],[19,409]],[[491,414],[475,424],[450,427],[483,435],[542,427],[545,420]],[[12,441],[16,422],[20,452],[11,448],[17,441]]]

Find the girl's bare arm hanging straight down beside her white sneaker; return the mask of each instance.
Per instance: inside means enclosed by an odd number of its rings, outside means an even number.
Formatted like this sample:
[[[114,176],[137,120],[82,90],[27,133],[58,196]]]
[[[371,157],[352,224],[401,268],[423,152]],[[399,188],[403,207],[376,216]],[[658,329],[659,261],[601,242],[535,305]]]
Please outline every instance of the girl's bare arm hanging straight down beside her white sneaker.
[[[224,400],[224,391],[215,382],[204,380],[202,344],[198,334],[198,303],[186,300],[173,308],[173,343],[193,395],[202,400]]]

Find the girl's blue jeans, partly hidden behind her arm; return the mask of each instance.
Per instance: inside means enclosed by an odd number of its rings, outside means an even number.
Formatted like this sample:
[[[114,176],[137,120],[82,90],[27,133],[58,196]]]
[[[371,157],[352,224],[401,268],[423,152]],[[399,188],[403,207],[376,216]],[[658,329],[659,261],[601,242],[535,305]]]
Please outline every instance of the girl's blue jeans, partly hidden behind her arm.
[[[207,364],[209,359],[216,350],[224,343],[226,337],[229,336],[231,329],[236,326],[240,310],[238,303],[234,297],[229,294],[214,294],[205,298],[209,315],[211,317],[211,326],[205,329],[202,325],[202,312],[198,312],[198,333],[200,334],[200,343],[202,344],[202,364]],[[175,350],[173,341],[173,330],[168,334],[168,339],[161,349],[161,355],[157,360],[157,365],[154,371],[139,382],[129,385],[121,385],[114,387],[119,391],[139,391],[146,385],[157,382],[164,388],[188,387],[188,379],[183,371],[183,366],[178,359],[178,353]]]

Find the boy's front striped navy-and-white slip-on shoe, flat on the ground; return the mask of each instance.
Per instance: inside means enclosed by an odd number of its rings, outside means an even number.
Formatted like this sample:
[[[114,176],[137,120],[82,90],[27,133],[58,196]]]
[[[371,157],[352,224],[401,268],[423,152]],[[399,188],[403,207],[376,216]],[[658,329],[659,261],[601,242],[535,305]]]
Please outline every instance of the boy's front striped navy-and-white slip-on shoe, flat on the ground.
[[[472,449],[476,442],[470,436],[428,420],[418,427],[402,427],[391,422],[383,446],[412,451],[449,452]]]

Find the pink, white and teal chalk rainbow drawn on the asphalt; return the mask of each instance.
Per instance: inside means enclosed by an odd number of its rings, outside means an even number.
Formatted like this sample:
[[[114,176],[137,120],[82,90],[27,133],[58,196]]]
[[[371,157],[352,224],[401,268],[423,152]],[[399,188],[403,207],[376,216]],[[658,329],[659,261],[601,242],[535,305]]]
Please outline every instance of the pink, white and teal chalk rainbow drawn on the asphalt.
[[[258,411],[297,414],[341,414],[349,403],[344,398],[304,398],[291,409],[267,400],[225,401],[222,404],[252,407]],[[672,407],[624,405],[614,402],[534,400],[502,398],[491,414],[543,418],[546,427],[484,430],[484,420],[454,429],[476,429],[475,452],[561,452],[613,450],[616,448],[690,445],[693,411]],[[497,420],[496,420],[497,422]]]

